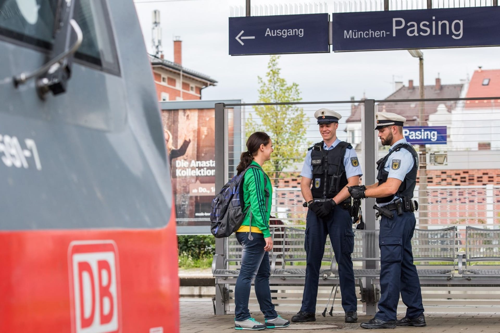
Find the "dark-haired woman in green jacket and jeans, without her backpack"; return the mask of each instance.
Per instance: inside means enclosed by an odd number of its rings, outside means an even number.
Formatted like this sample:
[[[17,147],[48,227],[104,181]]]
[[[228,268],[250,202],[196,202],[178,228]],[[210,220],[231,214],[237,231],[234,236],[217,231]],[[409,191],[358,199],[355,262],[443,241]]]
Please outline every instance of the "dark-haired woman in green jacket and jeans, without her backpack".
[[[290,322],[282,319],[274,310],[269,290],[269,251],[272,250],[272,238],[269,232],[272,187],[269,177],[262,170],[262,164],[270,159],[272,142],[264,132],[255,132],[246,140],[245,151],[236,170],[243,172],[250,168],[243,179],[243,210],[250,206],[241,227],[236,231],[236,238],[242,246],[241,270],[234,288],[234,328],[236,330],[263,330],[265,328],[286,327]],[[264,177],[265,180],[264,181]],[[265,189],[264,189],[265,186]],[[248,298],[251,281],[255,278],[255,296],[260,311],[264,314],[265,324],[250,317]]]

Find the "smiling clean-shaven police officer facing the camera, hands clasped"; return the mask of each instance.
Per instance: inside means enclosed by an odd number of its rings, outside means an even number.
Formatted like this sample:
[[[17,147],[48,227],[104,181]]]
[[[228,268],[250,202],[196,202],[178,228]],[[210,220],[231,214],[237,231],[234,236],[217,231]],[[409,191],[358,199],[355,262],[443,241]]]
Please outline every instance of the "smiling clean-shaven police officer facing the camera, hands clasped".
[[[352,146],[336,137],[341,115],[329,109],[314,113],[323,141],[310,147],[302,167],[300,190],[307,202],[305,227],[305,286],[302,307],[292,322],[315,321],[319,269],[329,235],[340,277],[345,322],[357,321],[357,298],[350,255],[354,248],[350,196],[346,185],[359,184],[362,175]]]

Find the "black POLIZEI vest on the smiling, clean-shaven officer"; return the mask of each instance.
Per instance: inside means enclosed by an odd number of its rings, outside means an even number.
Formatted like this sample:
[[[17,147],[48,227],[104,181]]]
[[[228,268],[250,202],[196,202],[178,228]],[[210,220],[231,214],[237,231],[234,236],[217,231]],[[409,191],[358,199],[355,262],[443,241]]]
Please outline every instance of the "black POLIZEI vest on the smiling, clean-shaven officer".
[[[310,147],[312,166],[313,198],[333,198],[347,185],[343,158],[346,149],[352,149],[348,142],[341,141],[330,150],[323,149],[323,141]]]

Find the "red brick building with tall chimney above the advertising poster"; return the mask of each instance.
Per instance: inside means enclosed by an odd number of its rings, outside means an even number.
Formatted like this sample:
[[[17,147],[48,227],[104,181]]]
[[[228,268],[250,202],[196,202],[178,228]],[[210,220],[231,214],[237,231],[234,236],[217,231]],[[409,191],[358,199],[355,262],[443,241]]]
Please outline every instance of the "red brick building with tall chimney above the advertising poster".
[[[182,41],[173,41],[173,62],[149,55],[158,100],[201,99],[201,90],[214,86],[211,77],[182,66]]]

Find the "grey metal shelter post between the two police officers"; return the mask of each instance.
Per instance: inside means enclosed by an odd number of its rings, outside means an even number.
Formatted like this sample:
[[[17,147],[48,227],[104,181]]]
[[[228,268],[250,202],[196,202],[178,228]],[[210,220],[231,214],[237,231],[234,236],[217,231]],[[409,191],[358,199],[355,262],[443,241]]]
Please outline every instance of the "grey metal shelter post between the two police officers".
[[[363,154],[364,161],[364,172],[363,172],[363,184],[371,185],[375,183],[375,156],[378,146],[375,141],[375,131],[373,126],[375,125],[375,100],[365,99],[364,100],[364,112],[361,114],[361,150]],[[363,219],[365,223],[366,230],[375,230],[375,210],[372,209],[375,204],[374,198],[366,198],[363,201]],[[365,261],[363,263],[364,269],[375,269],[376,262],[373,260]],[[367,316],[374,316],[376,313],[376,301],[371,297],[374,295],[373,286],[369,283],[369,278],[364,278],[363,286],[367,295],[369,296],[368,302],[363,303],[363,311],[366,312]]]

